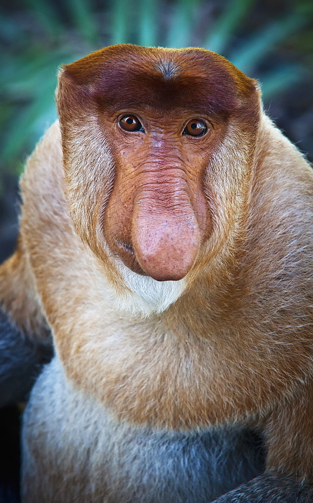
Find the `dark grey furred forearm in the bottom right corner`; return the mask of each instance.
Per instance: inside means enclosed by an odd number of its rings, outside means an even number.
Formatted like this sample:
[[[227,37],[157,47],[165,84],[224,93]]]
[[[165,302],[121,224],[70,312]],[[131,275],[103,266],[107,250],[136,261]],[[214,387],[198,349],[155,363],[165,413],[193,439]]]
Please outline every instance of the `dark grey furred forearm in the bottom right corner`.
[[[215,499],[213,503],[311,503],[313,484],[264,474]]]

